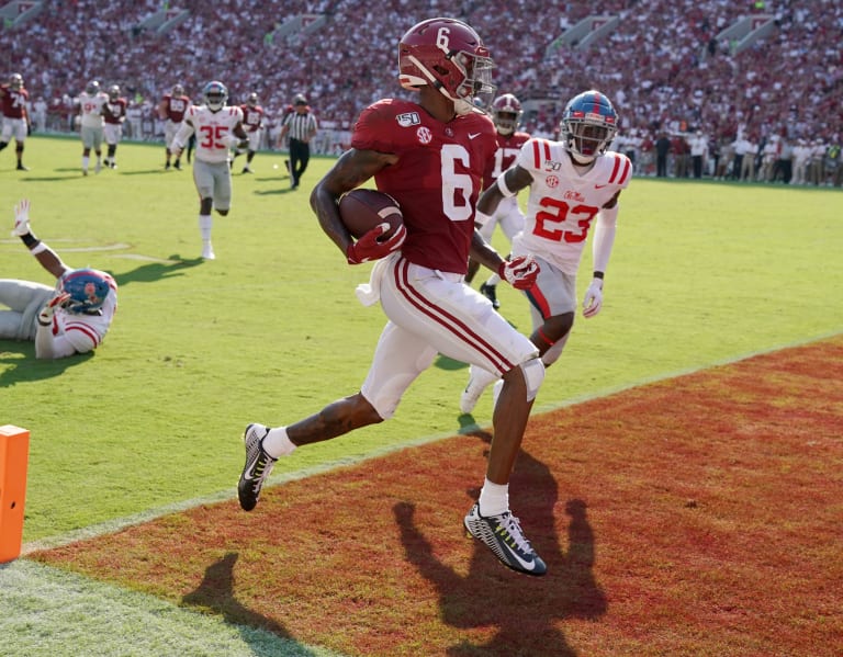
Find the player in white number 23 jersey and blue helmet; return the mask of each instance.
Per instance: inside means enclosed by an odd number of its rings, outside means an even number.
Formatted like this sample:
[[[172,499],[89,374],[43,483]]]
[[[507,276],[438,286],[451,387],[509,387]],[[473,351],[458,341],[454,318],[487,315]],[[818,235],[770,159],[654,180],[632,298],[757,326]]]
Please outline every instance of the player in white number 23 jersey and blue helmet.
[[[527,141],[515,166],[477,201],[477,212],[491,215],[502,200],[530,189],[524,230],[513,239],[513,256],[530,254],[539,263],[536,285],[525,294],[532,317],[530,340],[546,366],[559,359],[574,324],[576,272],[592,227],[594,276],[583,298],[583,316],[594,317],[603,305],[618,197],[632,178],[629,158],[606,150],[617,126],[617,112],[606,95],[591,90],[574,97],[565,106],[561,140]],[[462,412],[471,412],[496,378],[472,365],[460,398]]]

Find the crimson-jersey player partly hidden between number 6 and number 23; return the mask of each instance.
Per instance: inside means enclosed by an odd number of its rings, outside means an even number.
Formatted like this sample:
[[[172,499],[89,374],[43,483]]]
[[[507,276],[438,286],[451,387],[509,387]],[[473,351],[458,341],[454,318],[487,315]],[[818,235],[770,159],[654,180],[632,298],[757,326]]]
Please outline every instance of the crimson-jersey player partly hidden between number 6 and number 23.
[[[499,95],[492,103],[492,121],[497,129],[497,150],[494,159],[486,163],[486,170],[483,172],[484,190],[492,186],[497,177],[513,166],[521,146],[530,138],[529,133],[517,129],[522,114],[521,102],[512,93]],[[518,205],[518,199],[512,196],[504,199],[495,213],[484,219],[485,223],[477,220],[476,217],[475,222],[480,228],[480,234],[486,238],[486,241],[492,241],[495,226],[499,225],[506,239],[512,243],[513,237],[524,228],[524,213]],[[473,260],[469,262],[469,273],[465,275],[465,280],[471,282],[479,268],[479,262]],[[501,276],[493,272],[488,280],[480,286],[480,292],[492,302],[495,308],[501,307],[496,291]]]

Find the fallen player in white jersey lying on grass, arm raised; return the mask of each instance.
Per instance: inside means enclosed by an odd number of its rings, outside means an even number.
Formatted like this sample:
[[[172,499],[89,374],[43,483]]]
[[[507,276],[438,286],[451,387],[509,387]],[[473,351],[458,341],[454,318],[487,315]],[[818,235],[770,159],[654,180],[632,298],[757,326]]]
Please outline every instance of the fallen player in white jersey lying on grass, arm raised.
[[[53,286],[0,279],[0,339],[34,340],[36,359],[61,359],[102,343],[117,309],[117,284],[95,269],[70,269],[30,228],[30,202],[14,206],[12,235],[46,271]]]

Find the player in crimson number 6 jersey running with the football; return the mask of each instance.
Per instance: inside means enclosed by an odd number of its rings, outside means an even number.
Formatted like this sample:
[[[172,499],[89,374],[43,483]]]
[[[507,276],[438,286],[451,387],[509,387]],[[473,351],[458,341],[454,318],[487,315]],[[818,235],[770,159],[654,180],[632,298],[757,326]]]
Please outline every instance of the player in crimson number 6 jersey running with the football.
[[[497,149],[492,121],[474,104],[486,106],[493,98],[492,66],[477,33],[454,19],[423,21],[402,38],[400,81],[418,101],[386,99],[364,109],[350,150],[311,194],[323,230],[349,264],[380,259],[358,296],[364,305],[380,301],[389,321],[359,392],[286,426],[246,428],[238,494],[251,510],[280,456],[391,418],[442,353],[493,370],[505,382],[485,482],[463,524],[506,566],[543,575],[544,562],[509,511],[508,486],[544,366],[536,347],[464,282],[470,256],[516,287],[528,288],[538,273],[530,258],[501,258],[474,228],[483,170]],[[337,202],[372,178],[401,204],[405,230],[381,242],[383,224],[353,241]]]

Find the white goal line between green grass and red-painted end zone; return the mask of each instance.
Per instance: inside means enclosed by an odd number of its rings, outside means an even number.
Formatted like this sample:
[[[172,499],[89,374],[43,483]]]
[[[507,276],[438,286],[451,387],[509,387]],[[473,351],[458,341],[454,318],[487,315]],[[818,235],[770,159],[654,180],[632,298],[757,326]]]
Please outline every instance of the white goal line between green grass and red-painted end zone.
[[[574,406],[575,404],[582,404],[583,401],[589,401],[592,399],[599,399],[600,397],[608,397],[610,395],[615,395],[617,393],[621,393],[623,390],[628,390],[630,388],[636,388],[642,385],[648,385],[651,383],[655,383],[659,381],[665,381],[667,378],[676,378],[678,376],[685,376],[688,374],[694,374],[695,372],[701,372],[702,370],[710,370],[712,367],[719,367],[722,365],[729,365],[731,363],[737,363],[739,361],[743,361],[746,359],[754,358],[756,355],[762,355],[765,353],[773,353],[775,351],[782,351],[784,349],[791,349],[795,347],[801,347],[803,344],[810,344],[811,342],[819,342],[821,340],[827,340],[829,338],[833,338],[835,336],[840,336],[843,333],[843,330],[835,330],[828,333],[821,333],[819,336],[813,336],[811,338],[807,338],[805,340],[799,340],[797,342],[790,342],[788,344],[780,344],[777,347],[772,347],[769,349],[764,349],[761,351],[753,351],[749,353],[743,353],[737,356],[722,359],[719,361],[713,361],[711,363],[707,363],[705,365],[700,365],[698,367],[687,367],[684,370],[675,371],[675,372],[668,372],[665,374],[654,375],[654,376],[647,376],[644,378],[622,384],[618,386],[612,386],[609,388],[604,388],[602,390],[597,390],[596,393],[591,393],[586,395],[578,395],[575,397],[571,397],[569,399],[564,399],[557,404],[548,404],[544,406],[540,406],[535,409],[535,412],[548,412],[551,410],[555,410],[558,408],[566,408],[569,406]],[[483,429],[486,426],[481,424],[469,424],[465,427],[461,427],[459,431],[449,431],[446,433],[437,433],[431,435],[426,435],[423,438],[418,438],[415,440],[404,441],[398,444],[394,445],[387,445],[383,446],[376,450],[371,450],[370,452],[367,452],[364,454],[360,454],[358,456],[349,456],[344,458],[337,458],[334,461],[329,461],[327,463],[323,463],[313,467],[307,467],[300,471],[294,471],[290,473],[280,473],[278,476],[272,476],[272,483],[267,484],[265,486],[265,489],[280,486],[281,484],[286,484],[289,482],[295,482],[299,479],[304,479],[307,477],[311,477],[313,475],[318,475],[327,472],[331,472],[334,469],[338,469],[340,467],[347,467],[350,465],[357,465],[359,463],[363,463],[364,461],[369,461],[372,458],[379,458],[381,456],[385,456],[386,454],[391,454],[393,452],[397,452],[400,450],[404,450],[406,448],[413,448],[418,446],[431,442],[436,442],[439,440],[445,440],[447,438],[452,438],[453,435],[458,434],[465,434],[470,433],[472,431],[476,431],[479,429]],[[236,497],[235,492],[235,486],[232,486],[231,489],[221,490],[212,495],[192,498],[188,500],[182,500],[179,502],[173,502],[171,505],[166,505],[164,507],[158,507],[155,509],[148,509],[146,511],[142,511],[140,513],[134,513],[132,516],[127,516],[125,518],[116,518],[114,520],[108,520],[105,522],[100,522],[98,524],[92,524],[87,528],[82,528],[79,530],[74,530],[71,532],[67,532],[65,534],[58,534],[56,536],[48,536],[45,539],[40,539],[37,541],[32,541],[30,543],[24,543],[21,548],[21,555],[25,556],[27,554],[31,554],[33,552],[38,552],[42,550],[52,550],[54,547],[60,547],[63,545],[69,545],[70,543],[76,543],[77,541],[83,541],[87,539],[94,539],[97,536],[102,536],[105,534],[111,534],[114,532],[119,532],[121,530],[124,530],[128,526],[133,526],[136,524],[143,524],[144,522],[149,522],[151,520],[155,520],[156,518],[161,518],[162,516],[168,516],[170,513],[177,513],[180,511],[187,511],[190,509],[193,509],[195,507],[200,507],[202,505],[210,505],[214,502],[223,502],[228,501],[231,499],[234,499]]]

